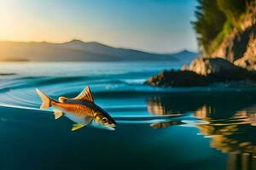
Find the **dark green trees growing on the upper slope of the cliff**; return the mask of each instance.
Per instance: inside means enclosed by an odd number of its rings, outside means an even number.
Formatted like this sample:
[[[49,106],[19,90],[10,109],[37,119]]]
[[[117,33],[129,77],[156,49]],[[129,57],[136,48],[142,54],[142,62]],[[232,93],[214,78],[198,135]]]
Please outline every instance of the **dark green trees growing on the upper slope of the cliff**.
[[[211,54],[224,37],[239,28],[241,15],[247,10],[247,4],[253,0],[198,0],[195,10],[196,21],[192,22],[198,35],[200,47]]]

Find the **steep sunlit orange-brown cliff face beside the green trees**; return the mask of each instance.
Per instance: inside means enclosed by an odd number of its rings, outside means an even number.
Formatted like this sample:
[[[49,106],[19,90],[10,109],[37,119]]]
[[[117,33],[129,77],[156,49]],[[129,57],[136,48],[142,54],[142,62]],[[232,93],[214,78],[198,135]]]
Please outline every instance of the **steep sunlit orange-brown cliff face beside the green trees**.
[[[209,56],[228,59],[250,71],[256,70],[256,5],[249,7],[239,26],[224,37]]]

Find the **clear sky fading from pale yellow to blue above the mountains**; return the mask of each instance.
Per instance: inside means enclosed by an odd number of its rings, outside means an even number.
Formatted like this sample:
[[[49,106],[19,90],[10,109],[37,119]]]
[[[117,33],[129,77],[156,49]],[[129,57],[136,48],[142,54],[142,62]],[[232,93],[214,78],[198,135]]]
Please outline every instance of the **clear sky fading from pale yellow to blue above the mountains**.
[[[196,0],[0,0],[0,40],[197,51]]]

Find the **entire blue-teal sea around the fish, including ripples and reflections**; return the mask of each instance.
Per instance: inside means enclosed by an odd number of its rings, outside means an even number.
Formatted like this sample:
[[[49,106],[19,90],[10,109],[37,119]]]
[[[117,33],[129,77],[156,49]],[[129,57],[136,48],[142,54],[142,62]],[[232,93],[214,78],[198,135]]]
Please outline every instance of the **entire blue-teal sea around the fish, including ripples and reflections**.
[[[243,84],[154,88],[175,62],[0,63],[0,169],[256,169],[256,90]],[[41,111],[89,85],[115,131]]]

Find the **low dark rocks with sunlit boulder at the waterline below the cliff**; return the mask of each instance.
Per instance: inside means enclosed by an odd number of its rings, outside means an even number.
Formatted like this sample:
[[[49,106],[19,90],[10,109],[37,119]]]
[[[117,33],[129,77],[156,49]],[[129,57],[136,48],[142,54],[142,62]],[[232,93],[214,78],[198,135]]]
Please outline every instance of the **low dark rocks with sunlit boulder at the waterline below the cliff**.
[[[145,84],[159,87],[198,87],[214,82],[256,82],[256,72],[233,65],[227,59],[198,58],[181,71],[163,71]]]

